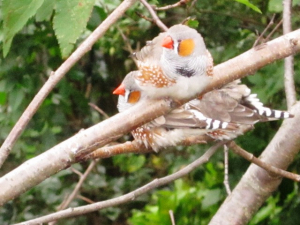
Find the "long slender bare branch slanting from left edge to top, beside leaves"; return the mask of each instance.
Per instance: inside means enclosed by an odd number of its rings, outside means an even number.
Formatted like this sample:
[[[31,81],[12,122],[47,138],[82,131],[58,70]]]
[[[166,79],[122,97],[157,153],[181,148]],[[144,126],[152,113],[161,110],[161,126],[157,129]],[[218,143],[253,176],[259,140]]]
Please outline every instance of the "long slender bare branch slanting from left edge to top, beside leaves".
[[[103,36],[103,34],[113,25],[137,0],[124,0],[97,28],[96,30],[76,49],[75,52],[55,71],[52,72],[47,82],[37,93],[28,105],[18,122],[15,124],[6,140],[0,148],[0,168],[9,155],[17,139],[38,110],[42,102],[52,91],[55,85],[64,77],[70,68],[82,58],[93,46],[93,44]]]

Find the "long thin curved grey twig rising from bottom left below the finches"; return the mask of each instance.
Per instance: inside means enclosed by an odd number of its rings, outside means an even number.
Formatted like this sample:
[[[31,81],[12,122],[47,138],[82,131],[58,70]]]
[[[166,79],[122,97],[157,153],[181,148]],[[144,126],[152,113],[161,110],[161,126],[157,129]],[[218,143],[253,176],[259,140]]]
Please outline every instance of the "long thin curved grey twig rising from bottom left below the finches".
[[[29,220],[29,221],[26,221],[23,223],[18,223],[18,224],[19,225],[20,224],[23,224],[23,225],[25,225],[25,224],[26,225],[42,224],[42,223],[47,223],[47,222],[50,222],[53,220],[74,217],[74,216],[94,212],[94,211],[97,211],[97,210],[100,210],[103,208],[112,207],[112,206],[120,205],[120,204],[123,204],[126,202],[130,202],[130,201],[136,199],[138,196],[145,194],[145,193],[149,192],[150,190],[153,190],[154,188],[160,187],[162,185],[166,185],[176,179],[179,179],[179,178],[189,174],[191,171],[193,171],[200,165],[208,162],[210,157],[218,150],[218,148],[220,146],[224,145],[225,143],[226,142],[219,142],[219,143],[213,145],[200,158],[198,158],[194,162],[190,163],[189,165],[187,165],[183,169],[179,170],[178,172],[173,173],[173,174],[168,175],[163,178],[155,179],[155,180],[151,181],[150,183],[148,183],[128,194],[125,194],[125,195],[122,195],[122,196],[119,196],[116,198],[112,198],[112,199],[109,199],[106,201],[86,205],[86,206],[69,208],[66,210],[62,210],[60,212],[52,213],[47,216],[42,216],[40,218]]]

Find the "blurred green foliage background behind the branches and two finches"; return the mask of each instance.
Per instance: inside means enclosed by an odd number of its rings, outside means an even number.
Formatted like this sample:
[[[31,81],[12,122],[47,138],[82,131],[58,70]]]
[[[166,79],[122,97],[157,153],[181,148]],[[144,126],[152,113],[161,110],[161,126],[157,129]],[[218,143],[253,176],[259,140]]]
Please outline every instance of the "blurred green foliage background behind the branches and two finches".
[[[31,99],[80,42],[100,24],[121,1],[84,0],[3,0],[0,4],[0,139],[9,131]],[[152,1],[163,6],[175,1]],[[252,47],[275,13],[275,24],[281,19],[281,0],[197,1],[191,7],[159,12],[167,26],[192,16],[189,24],[197,27],[218,64]],[[242,3],[242,4],[241,4]],[[294,1],[299,8],[299,0]],[[261,14],[257,13],[261,11]],[[92,102],[109,115],[116,113],[116,97],[112,90],[126,73],[135,69],[128,57],[127,45],[133,49],[155,37],[159,29],[136,12],[149,16],[135,4],[101,38],[91,51],[68,72],[43,102],[18,140],[1,175],[20,163],[38,155],[57,143],[104,120],[88,105]],[[299,27],[299,15],[293,16]],[[275,25],[274,25],[275,26]],[[274,27],[272,26],[272,28]],[[267,31],[269,33],[270,31]],[[127,37],[123,40],[122,34]],[[281,28],[273,37],[280,36]],[[5,57],[4,57],[5,56]],[[299,71],[299,65],[295,67]],[[296,72],[296,74],[297,74]],[[299,91],[300,78],[296,76]],[[243,80],[270,107],[284,109],[283,63],[269,65]],[[299,92],[298,92],[299,93]],[[237,141],[245,149],[259,155],[278,130],[280,122],[258,124],[254,131]],[[120,141],[128,140],[125,136]],[[177,147],[159,154],[123,155],[104,159],[93,169],[80,194],[93,201],[110,199],[163,177],[195,160],[207,146]],[[226,194],[223,186],[223,156],[217,153],[204,167],[131,203],[108,208],[85,216],[60,221],[58,224],[170,224],[172,209],[176,224],[207,224]],[[230,154],[230,185],[234,187],[248,167],[244,159]],[[88,163],[73,165],[84,172]],[[290,170],[299,173],[297,160]],[[11,224],[54,212],[72,192],[78,176],[66,169],[36,186],[0,209],[0,224]],[[80,198],[71,206],[86,204]],[[298,185],[284,180],[253,218],[251,224],[296,224],[300,198]],[[95,222],[97,221],[97,222]],[[99,222],[100,221],[100,222]]]

